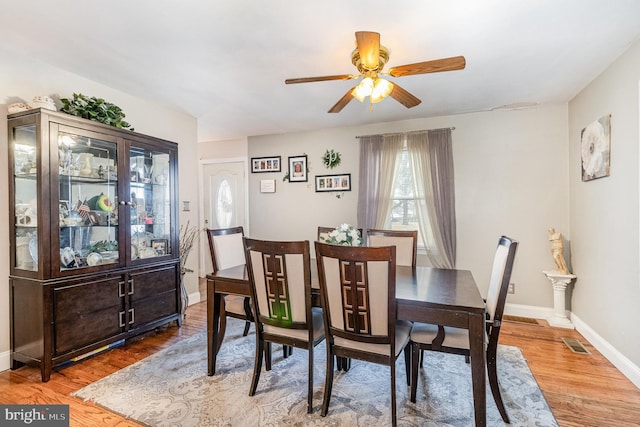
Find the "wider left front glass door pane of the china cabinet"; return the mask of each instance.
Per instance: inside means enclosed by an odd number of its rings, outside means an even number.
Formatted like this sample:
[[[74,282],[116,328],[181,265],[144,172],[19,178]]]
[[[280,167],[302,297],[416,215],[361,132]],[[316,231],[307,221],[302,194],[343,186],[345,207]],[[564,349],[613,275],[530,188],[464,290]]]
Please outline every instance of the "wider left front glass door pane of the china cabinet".
[[[118,145],[104,139],[58,131],[60,271],[120,262]]]

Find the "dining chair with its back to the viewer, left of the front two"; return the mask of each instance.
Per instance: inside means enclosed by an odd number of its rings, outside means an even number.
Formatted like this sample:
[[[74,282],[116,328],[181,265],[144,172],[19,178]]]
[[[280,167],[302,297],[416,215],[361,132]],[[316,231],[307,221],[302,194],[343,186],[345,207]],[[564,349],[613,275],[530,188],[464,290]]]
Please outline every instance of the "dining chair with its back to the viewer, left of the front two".
[[[256,355],[249,396],[258,387],[262,356],[271,358],[271,343],[304,348],[309,353],[307,412],[311,413],[313,349],[325,335],[322,309],[311,303],[309,241],[243,240],[256,314]]]

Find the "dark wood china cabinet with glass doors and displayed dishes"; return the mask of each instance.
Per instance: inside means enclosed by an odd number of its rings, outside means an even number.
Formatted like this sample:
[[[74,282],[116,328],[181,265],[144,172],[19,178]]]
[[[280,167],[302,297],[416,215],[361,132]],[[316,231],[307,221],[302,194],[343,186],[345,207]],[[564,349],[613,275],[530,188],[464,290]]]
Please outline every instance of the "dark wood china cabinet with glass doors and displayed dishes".
[[[181,323],[175,143],[8,116],[11,367],[54,367]]]

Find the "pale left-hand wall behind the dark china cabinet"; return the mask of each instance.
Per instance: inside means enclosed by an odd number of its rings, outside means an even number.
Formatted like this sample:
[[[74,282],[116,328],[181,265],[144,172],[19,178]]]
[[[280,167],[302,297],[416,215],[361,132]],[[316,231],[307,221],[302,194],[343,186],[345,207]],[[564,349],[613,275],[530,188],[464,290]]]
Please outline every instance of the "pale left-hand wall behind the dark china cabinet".
[[[196,140],[197,123],[194,117],[116,91],[96,82],[67,73],[20,53],[0,48],[3,67],[0,68],[0,188],[8,188],[7,160],[7,104],[21,98],[30,101],[36,95],[71,97],[73,92],[104,98],[119,105],[126,120],[136,132],[167,139],[179,144],[180,200],[197,204],[198,176]],[[4,196],[4,197],[8,197]],[[8,202],[5,199],[5,203]],[[180,221],[197,222],[197,211],[180,212]],[[0,370],[9,368],[9,218],[8,209],[0,209]],[[188,265],[197,266],[197,250]],[[192,267],[193,268],[193,267]],[[190,277],[193,276],[193,277]],[[187,275],[187,290],[197,292],[197,277]]]

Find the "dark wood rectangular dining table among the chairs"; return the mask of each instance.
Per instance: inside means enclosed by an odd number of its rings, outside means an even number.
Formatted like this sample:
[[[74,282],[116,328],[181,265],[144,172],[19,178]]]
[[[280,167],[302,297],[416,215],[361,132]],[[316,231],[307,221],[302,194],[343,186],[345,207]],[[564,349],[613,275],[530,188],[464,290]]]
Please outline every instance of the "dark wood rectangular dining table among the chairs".
[[[317,266],[311,262],[312,300],[319,304]],[[220,314],[226,294],[250,296],[244,265],[207,275],[207,370],[214,375],[224,338]],[[453,326],[469,331],[475,425],[486,425],[485,303],[469,270],[396,266],[396,305],[400,320]]]

